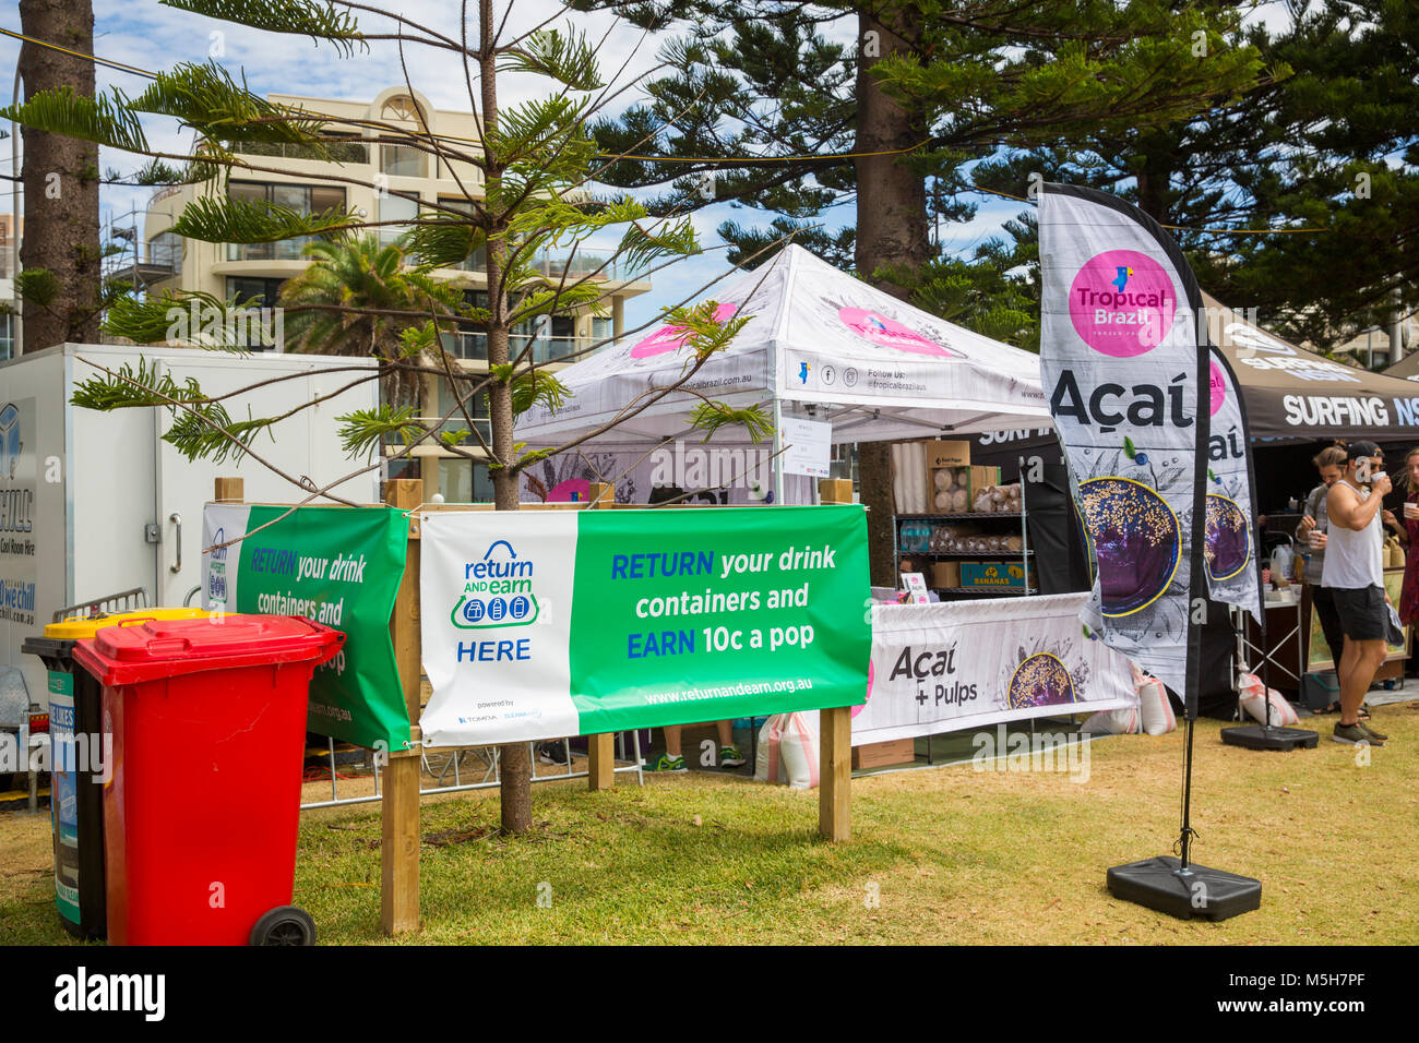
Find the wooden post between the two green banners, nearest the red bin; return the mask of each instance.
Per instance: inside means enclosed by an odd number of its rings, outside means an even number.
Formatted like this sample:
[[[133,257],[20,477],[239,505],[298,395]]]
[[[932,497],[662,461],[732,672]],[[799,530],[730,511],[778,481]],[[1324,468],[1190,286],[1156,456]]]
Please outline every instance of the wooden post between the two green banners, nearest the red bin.
[[[423,482],[394,478],[385,487],[385,502],[413,511],[423,502]],[[419,929],[419,769],[421,765],[419,711],[423,654],[419,634],[419,539],[417,521],[410,518],[409,556],[404,578],[394,597],[389,634],[394,643],[394,663],[409,710],[410,749],[389,751],[385,768],[383,830],[380,843],[380,925],[385,934]]]

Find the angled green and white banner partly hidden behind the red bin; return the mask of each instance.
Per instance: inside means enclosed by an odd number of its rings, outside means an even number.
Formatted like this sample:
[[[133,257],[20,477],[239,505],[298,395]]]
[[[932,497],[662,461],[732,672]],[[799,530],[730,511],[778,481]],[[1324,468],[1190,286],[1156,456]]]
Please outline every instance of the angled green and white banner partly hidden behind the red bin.
[[[201,545],[240,539],[287,509],[207,504]],[[407,541],[409,517],[393,508],[301,507],[201,556],[209,609],[305,616],[345,631],[345,647],[311,681],[312,732],[369,748],[409,742],[409,710],[389,636]]]

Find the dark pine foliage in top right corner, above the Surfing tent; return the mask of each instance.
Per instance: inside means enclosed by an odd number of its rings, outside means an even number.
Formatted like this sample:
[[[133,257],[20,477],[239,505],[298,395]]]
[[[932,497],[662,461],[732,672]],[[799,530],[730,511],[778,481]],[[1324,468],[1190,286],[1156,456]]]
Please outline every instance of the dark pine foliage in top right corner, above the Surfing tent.
[[[1128,199],[1172,226],[1206,289],[1321,349],[1384,325],[1396,291],[1412,311],[1419,11],[1325,0],[1293,14],[1274,35],[1257,26],[1232,41],[1290,72],[1236,105],[1142,131],[1061,136],[981,163],[978,183],[1020,194],[1043,177]],[[1017,250],[1033,248],[1026,233]]]

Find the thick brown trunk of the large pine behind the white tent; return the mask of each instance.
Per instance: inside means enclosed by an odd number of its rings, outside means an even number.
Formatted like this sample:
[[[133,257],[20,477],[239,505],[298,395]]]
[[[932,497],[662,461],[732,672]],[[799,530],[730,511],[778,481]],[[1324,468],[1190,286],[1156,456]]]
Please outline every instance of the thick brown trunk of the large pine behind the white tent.
[[[920,38],[920,16],[888,10],[881,21],[858,14],[857,152],[910,149],[927,138],[920,118],[877,85],[871,67],[907,41]],[[876,34],[876,35],[873,35]],[[905,40],[904,40],[905,37]],[[907,291],[874,272],[881,265],[920,268],[931,255],[927,220],[927,183],[901,155],[858,156],[857,170],[857,271],[878,289],[905,299]],[[861,501],[867,505],[867,556],[873,583],[897,586],[893,534],[891,448],[887,443],[857,447]]]

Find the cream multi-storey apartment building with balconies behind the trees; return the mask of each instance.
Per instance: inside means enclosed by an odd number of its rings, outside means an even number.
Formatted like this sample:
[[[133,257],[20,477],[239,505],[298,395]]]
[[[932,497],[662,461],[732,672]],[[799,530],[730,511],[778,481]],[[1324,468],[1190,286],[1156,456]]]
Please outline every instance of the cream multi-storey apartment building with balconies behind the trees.
[[[441,203],[467,207],[468,197],[482,192],[482,173],[465,162],[446,162],[417,149],[400,145],[377,145],[360,140],[373,133],[362,128],[365,121],[394,121],[410,129],[426,128],[440,139],[464,146],[477,140],[477,122],[470,112],[434,109],[429,101],[403,87],[382,91],[372,102],[352,102],[332,98],[304,98],[272,94],[270,101],[299,106],[331,118],[331,133],[349,136],[329,148],[331,158],[309,155],[297,146],[260,146],[241,156],[260,170],[234,169],[226,186],[231,196],[251,200],[271,200],[299,211],[314,213],[332,206],[353,210],[362,220],[393,221],[377,234],[393,241],[406,230],[399,223],[414,219],[420,203]],[[461,139],[461,140],[460,140]],[[355,183],[352,183],[355,182]],[[143,220],[142,247],[138,263],[131,265],[133,277],[146,291],[167,288],[203,291],[220,298],[241,295],[274,307],[281,284],[307,267],[302,254],[304,238],[278,243],[237,244],[203,243],[182,238],[167,228],[187,203],[199,194],[220,190],[216,182],[165,187],[156,192]],[[399,194],[394,194],[399,193]],[[417,202],[416,202],[417,199]],[[603,315],[589,309],[555,315],[515,331],[512,349],[531,346],[536,362],[556,363],[578,351],[623,331],[624,301],[650,291],[650,282],[637,280],[636,272],[607,263],[606,254],[578,250],[559,255],[542,255],[534,265],[543,272],[559,275],[570,258],[570,275],[593,275],[604,282],[609,307]],[[480,295],[487,299],[487,277],[481,251],[468,257],[457,268],[436,272],[464,287],[473,302]],[[465,372],[487,372],[487,345],[482,333],[457,333],[446,338],[446,348],[457,356]],[[426,387],[424,412],[443,416],[453,402],[446,382],[430,379]],[[475,423],[488,436],[485,407],[477,406]],[[450,427],[463,429],[460,419]],[[473,440],[470,440],[473,441]],[[448,502],[491,500],[492,487],[487,468],[460,458],[437,446],[416,450],[420,457],[426,497],[440,492]],[[399,470],[396,467],[394,474]]]

